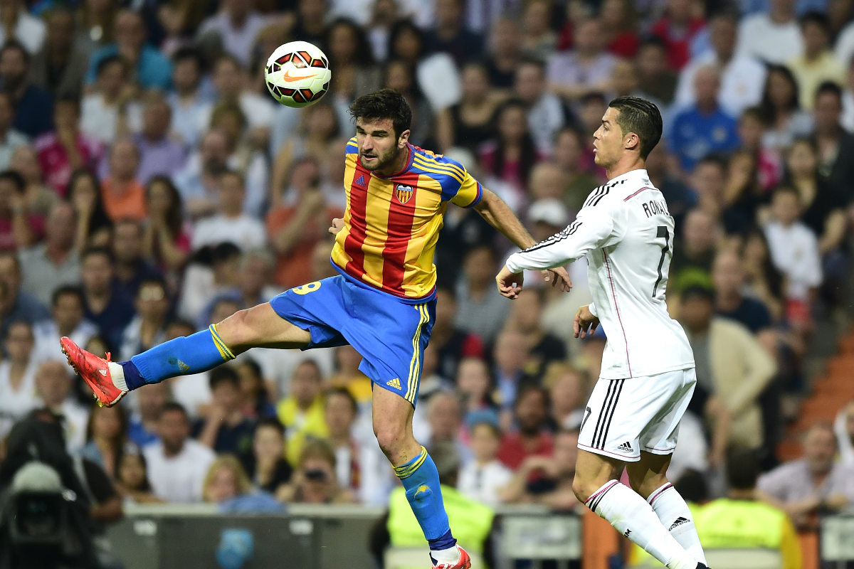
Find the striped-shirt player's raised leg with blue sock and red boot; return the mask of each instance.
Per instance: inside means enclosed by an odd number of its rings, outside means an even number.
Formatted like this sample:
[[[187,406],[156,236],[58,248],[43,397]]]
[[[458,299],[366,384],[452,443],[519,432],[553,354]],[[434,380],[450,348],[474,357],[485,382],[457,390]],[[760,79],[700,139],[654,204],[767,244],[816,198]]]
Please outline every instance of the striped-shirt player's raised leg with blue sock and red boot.
[[[147,383],[197,374],[234,359],[254,346],[303,347],[311,334],[284,320],[269,303],[238,311],[207,330],[156,345],[126,362],[111,362],[85,351],[69,338],[60,340],[74,371],[95,393],[98,404],[114,405]]]

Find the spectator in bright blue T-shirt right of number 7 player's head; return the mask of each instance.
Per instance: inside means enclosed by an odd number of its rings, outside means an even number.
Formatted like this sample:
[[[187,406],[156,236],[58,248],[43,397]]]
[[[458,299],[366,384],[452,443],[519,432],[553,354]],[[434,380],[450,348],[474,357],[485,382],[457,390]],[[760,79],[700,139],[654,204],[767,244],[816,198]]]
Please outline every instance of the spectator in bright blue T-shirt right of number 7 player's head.
[[[706,154],[727,153],[739,146],[735,119],[720,106],[721,78],[711,65],[694,73],[697,102],[676,113],[670,131],[670,145],[684,171],[693,170]]]

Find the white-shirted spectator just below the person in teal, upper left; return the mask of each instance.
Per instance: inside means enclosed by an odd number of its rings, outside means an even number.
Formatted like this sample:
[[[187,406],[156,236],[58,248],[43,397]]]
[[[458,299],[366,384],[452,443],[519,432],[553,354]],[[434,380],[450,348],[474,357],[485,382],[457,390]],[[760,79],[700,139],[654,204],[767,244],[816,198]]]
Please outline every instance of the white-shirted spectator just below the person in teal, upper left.
[[[98,61],[95,73],[95,84],[80,102],[80,131],[108,145],[139,131],[143,109],[128,63],[120,55]]]

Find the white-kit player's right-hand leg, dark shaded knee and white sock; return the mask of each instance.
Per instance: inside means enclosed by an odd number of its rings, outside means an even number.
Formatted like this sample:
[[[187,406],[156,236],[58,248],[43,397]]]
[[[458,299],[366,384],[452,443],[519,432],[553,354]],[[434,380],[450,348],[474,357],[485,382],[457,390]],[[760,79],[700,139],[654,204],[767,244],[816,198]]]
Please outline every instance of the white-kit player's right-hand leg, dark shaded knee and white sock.
[[[705,552],[699,543],[691,510],[667,480],[670,457],[671,455],[654,455],[641,450],[640,461],[626,465],[629,483],[640,496],[646,496],[646,502],[652,506],[652,511],[667,531],[670,531],[670,535],[696,560],[705,564]]]

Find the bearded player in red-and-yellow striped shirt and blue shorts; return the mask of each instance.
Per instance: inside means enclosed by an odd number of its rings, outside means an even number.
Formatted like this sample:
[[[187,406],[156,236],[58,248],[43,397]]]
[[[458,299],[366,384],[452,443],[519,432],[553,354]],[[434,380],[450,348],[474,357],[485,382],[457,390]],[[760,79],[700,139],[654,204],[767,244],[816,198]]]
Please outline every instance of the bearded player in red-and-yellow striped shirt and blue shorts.
[[[254,346],[353,345],[375,387],[374,433],[406,488],[433,566],[468,569],[469,555],[456,545],[447,522],[436,465],[412,435],[424,347],[436,315],[436,238],[450,201],[475,208],[518,247],[535,240],[462,165],[408,142],[412,111],[399,93],[362,96],[350,113],[356,136],[345,156],[347,209],[330,228],[338,275],[291,288],[128,362],[104,360],[67,338],[62,350],[98,401],[112,405],[129,390],[211,369]],[[569,290],[563,269],[550,271],[547,280]]]

